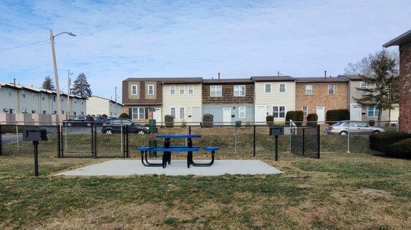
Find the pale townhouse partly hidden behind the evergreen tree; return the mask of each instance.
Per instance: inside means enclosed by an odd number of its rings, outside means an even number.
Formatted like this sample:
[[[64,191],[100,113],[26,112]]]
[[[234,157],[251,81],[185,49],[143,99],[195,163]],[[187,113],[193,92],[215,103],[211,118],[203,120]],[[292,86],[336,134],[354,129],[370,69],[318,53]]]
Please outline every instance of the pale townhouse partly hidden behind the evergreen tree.
[[[360,75],[338,75],[341,79],[348,80],[347,86],[347,109],[349,110],[350,120],[377,120],[379,109],[375,106],[361,107],[358,105],[356,99],[360,99],[364,92],[358,90],[357,88],[371,88],[371,86],[366,84],[361,80]],[[399,105],[394,106],[394,110],[383,110],[381,111],[381,120],[397,120],[399,116]]]

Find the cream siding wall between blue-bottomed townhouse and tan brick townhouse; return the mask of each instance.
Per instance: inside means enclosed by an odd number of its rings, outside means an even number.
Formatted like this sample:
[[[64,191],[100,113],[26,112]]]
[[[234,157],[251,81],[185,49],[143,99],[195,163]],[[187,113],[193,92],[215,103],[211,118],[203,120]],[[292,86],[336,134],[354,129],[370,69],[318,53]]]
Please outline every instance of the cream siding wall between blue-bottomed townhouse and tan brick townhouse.
[[[265,92],[265,84],[271,84],[271,92]],[[279,92],[279,84],[286,84],[286,92]],[[286,113],[295,110],[295,81],[257,81],[255,86],[255,105],[266,105],[266,115],[273,114],[273,106],[285,106]],[[283,122],[285,118],[275,118]]]

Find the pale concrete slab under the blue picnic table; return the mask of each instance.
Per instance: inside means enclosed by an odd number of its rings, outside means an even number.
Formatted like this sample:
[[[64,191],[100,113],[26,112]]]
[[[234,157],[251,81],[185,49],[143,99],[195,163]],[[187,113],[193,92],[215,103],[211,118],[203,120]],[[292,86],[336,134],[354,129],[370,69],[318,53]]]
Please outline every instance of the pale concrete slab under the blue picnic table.
[[[198,160],[199,163],[207,162]],[[153,161],[160,163],[160,161]],[[279,174],[277,168],[258,159],[219,159],[210,167],[187,168],[186,160],[175,159],[167,168],[146,167],[136,159],[113,159],[99,164],[77,168],[56,175],[67,176],[129,176],[129,175],[169,175],[169,176],[218,176],[218,175],[258,175]]]

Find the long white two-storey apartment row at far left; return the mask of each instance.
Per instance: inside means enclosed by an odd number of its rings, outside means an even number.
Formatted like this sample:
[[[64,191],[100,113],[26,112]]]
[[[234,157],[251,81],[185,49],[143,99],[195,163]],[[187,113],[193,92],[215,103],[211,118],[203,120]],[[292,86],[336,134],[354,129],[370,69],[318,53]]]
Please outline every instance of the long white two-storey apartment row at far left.
[[[57,92],[9,84],[0,81],[0,113],[8,114],[57,114],[57,103],[60,103],[60,114],[85,115],[86,98],[60,92],[60,102]]]

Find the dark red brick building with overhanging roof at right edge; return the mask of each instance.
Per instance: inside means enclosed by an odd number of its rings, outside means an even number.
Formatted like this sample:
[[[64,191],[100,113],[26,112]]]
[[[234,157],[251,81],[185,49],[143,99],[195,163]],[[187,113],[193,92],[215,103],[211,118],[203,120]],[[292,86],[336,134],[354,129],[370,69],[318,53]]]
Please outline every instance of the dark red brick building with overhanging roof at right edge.
[[[400,130],[411,133],[411,30],[383,45],[392,46],[399,46]]]

